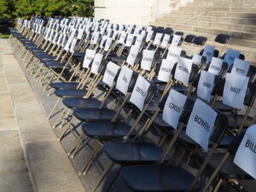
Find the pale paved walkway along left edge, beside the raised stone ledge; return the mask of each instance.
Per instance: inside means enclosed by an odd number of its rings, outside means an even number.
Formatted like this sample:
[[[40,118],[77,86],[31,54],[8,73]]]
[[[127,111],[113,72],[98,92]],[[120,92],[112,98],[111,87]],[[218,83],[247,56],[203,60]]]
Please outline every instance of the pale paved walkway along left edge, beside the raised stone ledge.
[[[15,90],[26,85],[6,40],[0,40],[0,192],[31,192],[24,152],[15,120],[15,102],[21,98]],[[14,96],[14,97],[12,97]]]

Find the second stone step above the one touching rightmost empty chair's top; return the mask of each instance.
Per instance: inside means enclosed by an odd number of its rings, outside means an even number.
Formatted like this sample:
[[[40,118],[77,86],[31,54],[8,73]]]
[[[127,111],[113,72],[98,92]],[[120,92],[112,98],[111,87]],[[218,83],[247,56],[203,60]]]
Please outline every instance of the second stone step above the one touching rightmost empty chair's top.
[[[180,15],[168,15],[167,17],[157,18],[158,21],[164,22],[173,22],[173,21],[185,21],[190,20],[191,15],[184,14],[183,16]],[[233,23],[233,24],[241,24],[241,25],[252,25],[255,26],[256,19],[248,20],[247,18],[234,18],[234,17],[218,17],[218,16],[211,16],[211,15],[199,15],[194,16],[193,20],[205,20],[205,21],[214,21],[214,22],[224,22],[224,23]]]

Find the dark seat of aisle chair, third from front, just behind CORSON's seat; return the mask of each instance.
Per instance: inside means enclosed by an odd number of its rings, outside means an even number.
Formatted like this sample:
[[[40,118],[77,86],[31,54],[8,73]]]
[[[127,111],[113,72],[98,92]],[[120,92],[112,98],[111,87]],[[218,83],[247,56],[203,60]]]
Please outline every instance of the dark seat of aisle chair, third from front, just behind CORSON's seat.
[[[131,130],[131,126],[123,122],[89,122],[82,126],[84,133],[91,138],[113,140],[125,137]],[[131,137],[135,137],[133,131]]]

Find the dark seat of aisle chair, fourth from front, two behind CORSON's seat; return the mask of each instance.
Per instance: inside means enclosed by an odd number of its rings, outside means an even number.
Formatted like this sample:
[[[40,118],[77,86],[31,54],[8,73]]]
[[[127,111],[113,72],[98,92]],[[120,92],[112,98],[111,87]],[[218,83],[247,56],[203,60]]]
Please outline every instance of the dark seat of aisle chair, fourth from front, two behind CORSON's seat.
[[[79,108],[73,111],[74,116],[85,122],[111,121],[115,111],[108,108]],[[122,119],[119,115],[117,120]]]

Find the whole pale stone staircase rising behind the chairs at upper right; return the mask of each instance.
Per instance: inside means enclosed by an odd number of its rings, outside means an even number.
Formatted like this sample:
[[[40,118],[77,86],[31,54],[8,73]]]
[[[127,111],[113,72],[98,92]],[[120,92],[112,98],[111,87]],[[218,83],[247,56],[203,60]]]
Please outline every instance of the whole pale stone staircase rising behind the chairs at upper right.
[[[256,58],[255,0],[194,0],[151,23],[169,26],[174,31],[208,38],[214,44],[219,33],[230,34],[228,48],[241,50],[247,61]],[[196,52],[191,50],[191,53]]]

